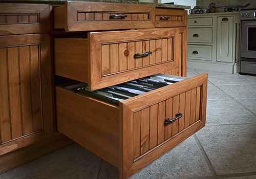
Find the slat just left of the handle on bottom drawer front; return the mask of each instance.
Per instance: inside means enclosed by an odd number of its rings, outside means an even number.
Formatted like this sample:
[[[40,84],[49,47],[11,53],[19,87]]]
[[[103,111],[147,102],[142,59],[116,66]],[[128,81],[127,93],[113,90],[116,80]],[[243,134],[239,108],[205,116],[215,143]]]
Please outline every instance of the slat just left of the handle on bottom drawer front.
[[[157,144],[164,141],[165,135],[165,101],[158,103],[158,133]]]

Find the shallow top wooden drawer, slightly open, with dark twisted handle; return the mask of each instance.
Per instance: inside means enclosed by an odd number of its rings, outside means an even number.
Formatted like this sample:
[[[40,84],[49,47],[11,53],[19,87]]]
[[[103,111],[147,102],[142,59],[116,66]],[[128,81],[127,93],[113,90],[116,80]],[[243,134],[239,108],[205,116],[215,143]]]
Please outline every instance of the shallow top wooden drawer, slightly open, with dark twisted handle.
[[[112,29],[155,27],[155,6],[66,2],[54,8],[54,28],[70,31],[95,31]]]

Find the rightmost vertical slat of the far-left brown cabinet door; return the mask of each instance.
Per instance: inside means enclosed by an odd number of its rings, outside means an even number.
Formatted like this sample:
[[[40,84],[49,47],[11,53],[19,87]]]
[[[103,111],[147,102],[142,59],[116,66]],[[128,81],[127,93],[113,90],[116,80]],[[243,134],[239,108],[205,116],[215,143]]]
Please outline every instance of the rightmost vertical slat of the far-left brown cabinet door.
[[[31,91],[32,91],[32,114],[34,131],[42,129],[41,99],[40,99],[40,68],[39,68],[39,47],[30,46],[31,56]],[[42,92],[44,93],[44,92]]]

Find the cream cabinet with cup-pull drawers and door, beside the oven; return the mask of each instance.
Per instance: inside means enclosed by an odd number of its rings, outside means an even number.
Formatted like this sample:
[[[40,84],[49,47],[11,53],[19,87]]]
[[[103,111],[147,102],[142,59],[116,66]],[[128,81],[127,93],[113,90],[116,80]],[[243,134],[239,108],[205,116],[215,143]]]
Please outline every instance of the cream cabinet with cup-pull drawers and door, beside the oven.
[[[188,15],[187,68],[238,73],[239,12]]]

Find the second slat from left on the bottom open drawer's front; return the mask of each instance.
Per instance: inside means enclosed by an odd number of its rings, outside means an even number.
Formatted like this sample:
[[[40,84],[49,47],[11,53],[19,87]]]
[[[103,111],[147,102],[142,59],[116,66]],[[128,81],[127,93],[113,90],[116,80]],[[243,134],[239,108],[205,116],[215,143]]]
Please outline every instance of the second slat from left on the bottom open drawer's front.
[[[150,107],[141,110],[141,154],[150,149]]]

